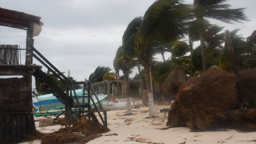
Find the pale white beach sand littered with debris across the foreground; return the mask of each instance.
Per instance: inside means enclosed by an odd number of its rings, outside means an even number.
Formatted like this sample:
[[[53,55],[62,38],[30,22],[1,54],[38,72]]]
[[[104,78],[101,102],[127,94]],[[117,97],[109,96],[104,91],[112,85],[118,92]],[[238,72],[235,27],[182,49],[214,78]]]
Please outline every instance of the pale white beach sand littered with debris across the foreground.
[[[125,110],[108,111],[108,128],[111,130],[106,134],[117,133],[111,136],[102,136],[96,138],[88,144],[121,144],[121,143],[139,143],[139,140],[145,143],[164,143],[178,144],[186,143],[248,143],[256,142],[248,140],[256,140],[256,132],[237,132],[236,130],[228,130],[224,132],[189,132],[187,127],[170,128],[167,130],[159,130],[158,128],[166,127],[167,117],[164,113],[160,113],[160,109],[169,108],[170,105],[155,105],[156,118],[146,118],[148,116],[148,107],[140,107],[140,109],[132,109],[133,115],[125,116]],[[166,116],[168,113],[166,113]],[[39,119],[42,117],[35,117]],[[99,118],[100,120],[100,118]],[[54,132],[61,126],[47,126],[39,128],[39,122],[36,122],[36,129],[40,132]],[[26,144],[37,144],[40,140],[26,142]],[[24,143],[25,144],[25,143]]]

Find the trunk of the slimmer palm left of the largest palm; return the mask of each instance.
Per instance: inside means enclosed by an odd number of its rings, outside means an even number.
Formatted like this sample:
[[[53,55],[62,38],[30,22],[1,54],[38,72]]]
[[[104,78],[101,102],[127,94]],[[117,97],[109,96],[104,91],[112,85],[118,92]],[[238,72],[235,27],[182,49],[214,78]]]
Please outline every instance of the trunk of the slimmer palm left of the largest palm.
[[[131,98],[130,98],[129,71],[123,70],[123,72],[124,72],[124,82],[125,82],[125,95],[126,95],[126,101],[127,101],[126,115],[131,115],[132,105],[131,105]]]

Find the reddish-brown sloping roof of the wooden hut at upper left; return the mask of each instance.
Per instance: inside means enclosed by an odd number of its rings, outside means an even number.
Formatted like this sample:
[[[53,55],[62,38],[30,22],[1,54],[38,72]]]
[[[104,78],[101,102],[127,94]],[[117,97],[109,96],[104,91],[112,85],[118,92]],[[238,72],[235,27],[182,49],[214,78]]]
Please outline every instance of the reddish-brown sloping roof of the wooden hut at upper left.
[[[18,12],[8,10],[0,7],[0,25],[25,29],[29,27],[29,21],[40,24],[41,17],[27,14],[24,12]]]

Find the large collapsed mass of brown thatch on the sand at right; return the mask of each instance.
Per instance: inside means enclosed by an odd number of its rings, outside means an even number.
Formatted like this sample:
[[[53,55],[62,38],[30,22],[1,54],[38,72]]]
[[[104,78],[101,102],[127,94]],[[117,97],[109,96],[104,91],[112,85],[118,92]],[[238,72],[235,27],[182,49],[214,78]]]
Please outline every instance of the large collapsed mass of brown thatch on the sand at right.
[[[241,73],[244,98],[252,107],[255,107],[256,95],[255,70]],[[220,67],[210,68],[201,76],[191,78],[180,87],[168,113],[168,124],[171,127],[187,126],[191,130],[209,130],[227,123],[230,123],[229,128],[239,129],[235,125],[244,121],[256,126],[254,109],[239,110],[236,82],[233,74]],[[237,110],[229,112],[234,108]],[[244,127],[243,130],[249,129]]]

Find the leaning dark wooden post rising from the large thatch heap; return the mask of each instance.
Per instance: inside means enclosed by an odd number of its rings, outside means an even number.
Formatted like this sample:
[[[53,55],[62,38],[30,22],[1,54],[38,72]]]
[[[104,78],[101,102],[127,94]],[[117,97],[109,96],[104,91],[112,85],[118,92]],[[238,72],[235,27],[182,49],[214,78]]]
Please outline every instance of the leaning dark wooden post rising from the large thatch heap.
[[[244,98],[243,98],[243,92],[242,92],[242,84],[240,82],[240,76],[239,76],[239,72],[238,72],[237,65],[236,65],[236,57],[235,57],[235,53],[233,50],[233,44],[231,41],[229,30],[225,30],[225,34],[226,34],[226,41],[227,41],[227,45],[228,45],[229,57],[232,62],[232,69],[233,69],[233,72],[234,72],[236,78],[239,80],[236,83],[236,87],[237,87],[238,97],[241,102],[241,109],[243,109]]]

